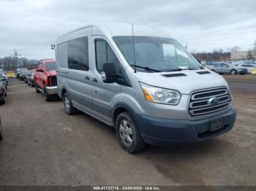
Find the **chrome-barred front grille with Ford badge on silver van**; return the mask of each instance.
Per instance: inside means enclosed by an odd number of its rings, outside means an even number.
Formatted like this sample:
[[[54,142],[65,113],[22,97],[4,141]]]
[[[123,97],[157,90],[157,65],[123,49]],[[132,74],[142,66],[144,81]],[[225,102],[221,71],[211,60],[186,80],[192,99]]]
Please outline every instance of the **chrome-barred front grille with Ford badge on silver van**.
[[[209,103],[210,98],[218,98],[218,103]],[[225,87],[197,90],[191,95],[189,113],[192,116],[213,114],[227,109],[230,106],[230,103],[230,93]]]

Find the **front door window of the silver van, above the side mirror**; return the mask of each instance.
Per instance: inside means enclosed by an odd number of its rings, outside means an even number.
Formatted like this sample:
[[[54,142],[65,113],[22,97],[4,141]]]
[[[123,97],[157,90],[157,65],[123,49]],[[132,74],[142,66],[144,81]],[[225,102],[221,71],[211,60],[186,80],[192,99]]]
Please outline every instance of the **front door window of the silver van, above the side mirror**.
[[[99,72],[102,71],[104,63],[113,63],[116,71],[119,71],[121,69],[121,63],[116,58],[116,55],[111,47],[108,45],[108,42],[106,42],[105,40],[97,40],[95,42],[95,47],[96,65]]]

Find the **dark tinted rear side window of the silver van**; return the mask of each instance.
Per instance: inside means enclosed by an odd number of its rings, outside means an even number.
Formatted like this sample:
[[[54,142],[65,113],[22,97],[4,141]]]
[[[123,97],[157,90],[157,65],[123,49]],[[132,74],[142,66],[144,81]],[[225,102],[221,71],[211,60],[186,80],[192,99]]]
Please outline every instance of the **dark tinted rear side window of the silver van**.
[[[74,39],[67,44],[67,64],[69,69],[89,70],[88,37]]]

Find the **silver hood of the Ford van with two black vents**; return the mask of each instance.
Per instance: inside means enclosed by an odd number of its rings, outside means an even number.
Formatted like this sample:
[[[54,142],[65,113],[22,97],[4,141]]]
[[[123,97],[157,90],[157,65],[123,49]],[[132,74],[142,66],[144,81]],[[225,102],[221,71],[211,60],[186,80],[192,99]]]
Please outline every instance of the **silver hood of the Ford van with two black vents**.
[[[199,73],[198,73],[199,72]],[[182,94],[190,94],[194,90],[211,87],[227,87],[225,79],[213,71],[183,70],[161,73],[137,72],[140,82],[157,87],[178,90]]]

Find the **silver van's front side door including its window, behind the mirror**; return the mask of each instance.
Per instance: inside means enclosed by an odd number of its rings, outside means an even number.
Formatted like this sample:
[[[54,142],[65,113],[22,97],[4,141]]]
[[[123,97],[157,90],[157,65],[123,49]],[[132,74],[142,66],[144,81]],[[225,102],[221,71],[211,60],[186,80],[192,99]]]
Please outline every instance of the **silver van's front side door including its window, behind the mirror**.
[[[121,85],[118,83],[105,83],[100,75],[104,63],[114,63],[116,71],[121,70],[121,63],[113,52],[110,43],[103,36],[93,36],[92,40],[92,61],[94,69],[92,71],[92,108],[95,114],[105,117],[111,122],[111,112],[113,99],[121,92]]]

